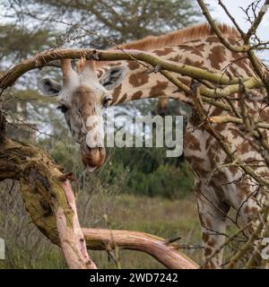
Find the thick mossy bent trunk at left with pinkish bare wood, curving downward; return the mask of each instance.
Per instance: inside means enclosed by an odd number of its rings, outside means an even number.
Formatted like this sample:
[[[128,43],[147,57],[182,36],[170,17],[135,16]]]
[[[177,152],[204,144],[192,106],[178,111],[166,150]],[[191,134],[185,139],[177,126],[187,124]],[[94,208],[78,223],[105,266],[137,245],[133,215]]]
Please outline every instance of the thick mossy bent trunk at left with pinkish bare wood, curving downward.
[[[1,118],[0,180],[19,180],[32,222],[62,248],[70,268],[96,268],[87,253],[68,179],[46,152],[6,139]]]

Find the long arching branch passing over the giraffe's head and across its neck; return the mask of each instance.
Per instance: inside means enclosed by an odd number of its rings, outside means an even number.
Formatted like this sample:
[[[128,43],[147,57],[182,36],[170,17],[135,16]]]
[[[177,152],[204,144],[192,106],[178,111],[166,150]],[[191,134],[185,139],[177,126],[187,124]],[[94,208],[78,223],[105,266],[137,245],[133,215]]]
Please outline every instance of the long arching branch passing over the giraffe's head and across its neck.
[[[240,83],[240,81],[247,81],[252,79],[258,81],[255,78],[233,78],[223,74],[213,74],[203,69],[197,68],[191,65],[182,65],[169,60],[163,60],[159,57],[155,57],[151,53],[143,52],[139,50],[95,50],[91,48],[85,49],[72,49],[72,48],[56,48],[44,51],[35,57],[23,61],[19,65],[13,66],[10,70],[2,74],[0,77],[0,89],[5,89],[22,76],[31,70],[42,68],[48,63],[59,60],[61,58],[81,58],[86,59],[98,59],[101,61],[118,61],[118,60],[139,60],[151,64],[152,66],[159,66],[163,70],[168,70],[178,74],[186,75],[195,79],[204,79],[212,83],[218,83],[223,85],[230,85]],[[258,81],[259,82],[259,81]]]

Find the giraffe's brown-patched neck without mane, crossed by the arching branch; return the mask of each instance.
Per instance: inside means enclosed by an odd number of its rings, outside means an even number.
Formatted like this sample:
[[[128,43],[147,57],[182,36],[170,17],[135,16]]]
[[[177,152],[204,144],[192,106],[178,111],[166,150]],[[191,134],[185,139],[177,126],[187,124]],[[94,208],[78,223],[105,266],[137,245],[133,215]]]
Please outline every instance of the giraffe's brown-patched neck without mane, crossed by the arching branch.
[[[237,40],[227,35],[232,44]],[[156,57],[165,60],[193,65],[211,73],[233,76],[255,76],[249,60],[241,53],[230,52],[220,43],[216,36],[204,39],[195,39],[181,43],[175,47],[162,47],[152,49],[150,52]],[[180,100],[193,106],[193,100],[184,91],[178,91],[173,83],[169,82],[161,73],[151,73],[149,70],[134,61],[117,61],[112,64],[101,65],[99,75],[108,71],[111,66],[126,66],[126,78],[121,85],[112,91],[112,105],[124,103],[129,100],[142,100],[147,98],[170,98]],[[186,76],[174,74],[181,82],[189,85],[191,79]]]

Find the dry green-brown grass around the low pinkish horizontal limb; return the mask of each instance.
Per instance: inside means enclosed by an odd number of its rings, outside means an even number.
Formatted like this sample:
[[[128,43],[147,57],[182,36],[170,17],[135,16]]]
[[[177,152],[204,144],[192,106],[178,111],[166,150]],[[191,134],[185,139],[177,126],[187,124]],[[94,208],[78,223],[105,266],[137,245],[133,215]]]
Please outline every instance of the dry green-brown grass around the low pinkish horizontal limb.
[[[180,243],[201,243],[194,196],[172,201],[161,197],[118,195],[107,216],[109,223],[104,220],[99,222],[99,227],[143,231],[165,239],[180,235]],[[200,262],[201,250],[186,249],[184,252]],[[108,255],[103,251],[91,251],[91,257],[99,268],[117,267],[113,261],[108,261]],[[152,257],[137,251],[120,250],[119,261],[122,268],[163,267]]]

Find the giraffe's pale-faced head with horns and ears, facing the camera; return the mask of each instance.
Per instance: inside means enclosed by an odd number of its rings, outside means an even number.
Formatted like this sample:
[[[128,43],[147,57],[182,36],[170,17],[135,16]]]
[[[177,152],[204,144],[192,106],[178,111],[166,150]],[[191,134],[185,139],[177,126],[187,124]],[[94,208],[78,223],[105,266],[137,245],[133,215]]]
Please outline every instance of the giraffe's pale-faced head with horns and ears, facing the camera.
[[[63,84],[49,78],[38,86],[42,93],[57,97],[57,109],[65,115],[65,121],[74,140],[80,144],[82,162],[89,171],[96,170],[105,161],[104,126],[102,115],[112,102],[109,90],[120,84],[126,74],[124,67],[112,67],[100,78],[94,61],[86,61],[75,72],[71,61],[61,61]]]

